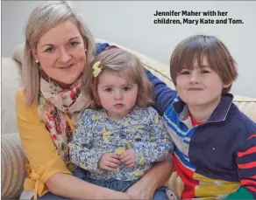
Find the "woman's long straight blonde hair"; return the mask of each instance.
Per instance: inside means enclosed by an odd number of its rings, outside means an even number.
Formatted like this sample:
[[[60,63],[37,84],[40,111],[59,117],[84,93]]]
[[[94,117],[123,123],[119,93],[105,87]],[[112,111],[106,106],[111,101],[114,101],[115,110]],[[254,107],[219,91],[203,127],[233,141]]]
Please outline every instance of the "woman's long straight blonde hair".
[[[32,50],[37,48],[39,38],[48,30],[66,20],[72,20],[77,25],[83,41],[87,46],[87,63],[95,54],[95,42],[89,28],[82,21],[82,17],[75,13],[75,9],[67,1],[49,1],[32,10],[25,27],[25,52],[23,66],[23,84],[25,86],[25,103],[37,104],[39,99],[40,72],[32,56]],[[86,68],[86,67],[85,67]]]

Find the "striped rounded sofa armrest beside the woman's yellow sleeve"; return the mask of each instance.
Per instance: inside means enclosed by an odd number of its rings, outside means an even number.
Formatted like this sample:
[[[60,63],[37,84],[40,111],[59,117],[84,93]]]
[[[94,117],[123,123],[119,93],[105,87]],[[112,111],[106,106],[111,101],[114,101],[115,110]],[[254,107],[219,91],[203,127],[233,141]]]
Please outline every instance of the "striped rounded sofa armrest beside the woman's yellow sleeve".
[[[26,176],[25,154],[19,134],[2,134],[1,189],[3,199],[18,198],[23,190]]]

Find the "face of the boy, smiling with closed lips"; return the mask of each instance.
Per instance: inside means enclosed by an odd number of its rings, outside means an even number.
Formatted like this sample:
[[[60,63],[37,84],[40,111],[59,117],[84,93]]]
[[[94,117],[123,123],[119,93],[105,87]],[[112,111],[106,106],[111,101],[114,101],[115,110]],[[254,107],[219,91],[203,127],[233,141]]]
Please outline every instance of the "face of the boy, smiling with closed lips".
[[[176,90],[188,107],[218,104],[223,88],[231,85],[223,83],[217,72],[210,68],[205,57],[202,65],[203,67],[198,66],[196,60],[193,70],[183,68],[176,78]]]

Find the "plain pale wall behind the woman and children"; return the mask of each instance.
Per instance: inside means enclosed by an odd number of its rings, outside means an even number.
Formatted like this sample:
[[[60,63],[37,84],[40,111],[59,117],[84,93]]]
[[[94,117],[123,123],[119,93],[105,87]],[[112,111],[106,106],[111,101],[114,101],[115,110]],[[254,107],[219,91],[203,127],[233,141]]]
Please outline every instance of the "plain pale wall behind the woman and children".
[[[25,22],[39,3],[2,1],[2,56],[11,56],[16,45],[24,41]],[[124,45],[165,64],[181,39],[200,33],[217,36],[238,63],[239,77],[232,92],[256,98],[256,2],[75,1],[74,5],[82,12],[95,38]],[[221,10],[228,15],[205,18],[236,18],[242,19],[244,24],[153,24],[156,10]]]

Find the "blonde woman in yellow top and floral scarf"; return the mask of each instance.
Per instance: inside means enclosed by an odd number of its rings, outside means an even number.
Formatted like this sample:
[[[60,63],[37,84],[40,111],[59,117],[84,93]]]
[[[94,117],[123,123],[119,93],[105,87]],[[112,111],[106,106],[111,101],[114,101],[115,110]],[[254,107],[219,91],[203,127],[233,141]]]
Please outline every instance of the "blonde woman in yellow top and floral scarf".
[[[25,191],[31,197],[148,199],[173,170],[172,162],[160,162],[125,193],[86,183],[74,171],[68,142],[89,107],[89,96],[81,92],[82,72],[95,49],[69,3],[48,2],[32,11],[25,30],[24,87],[17,93],[18,128],[29,160]]]

